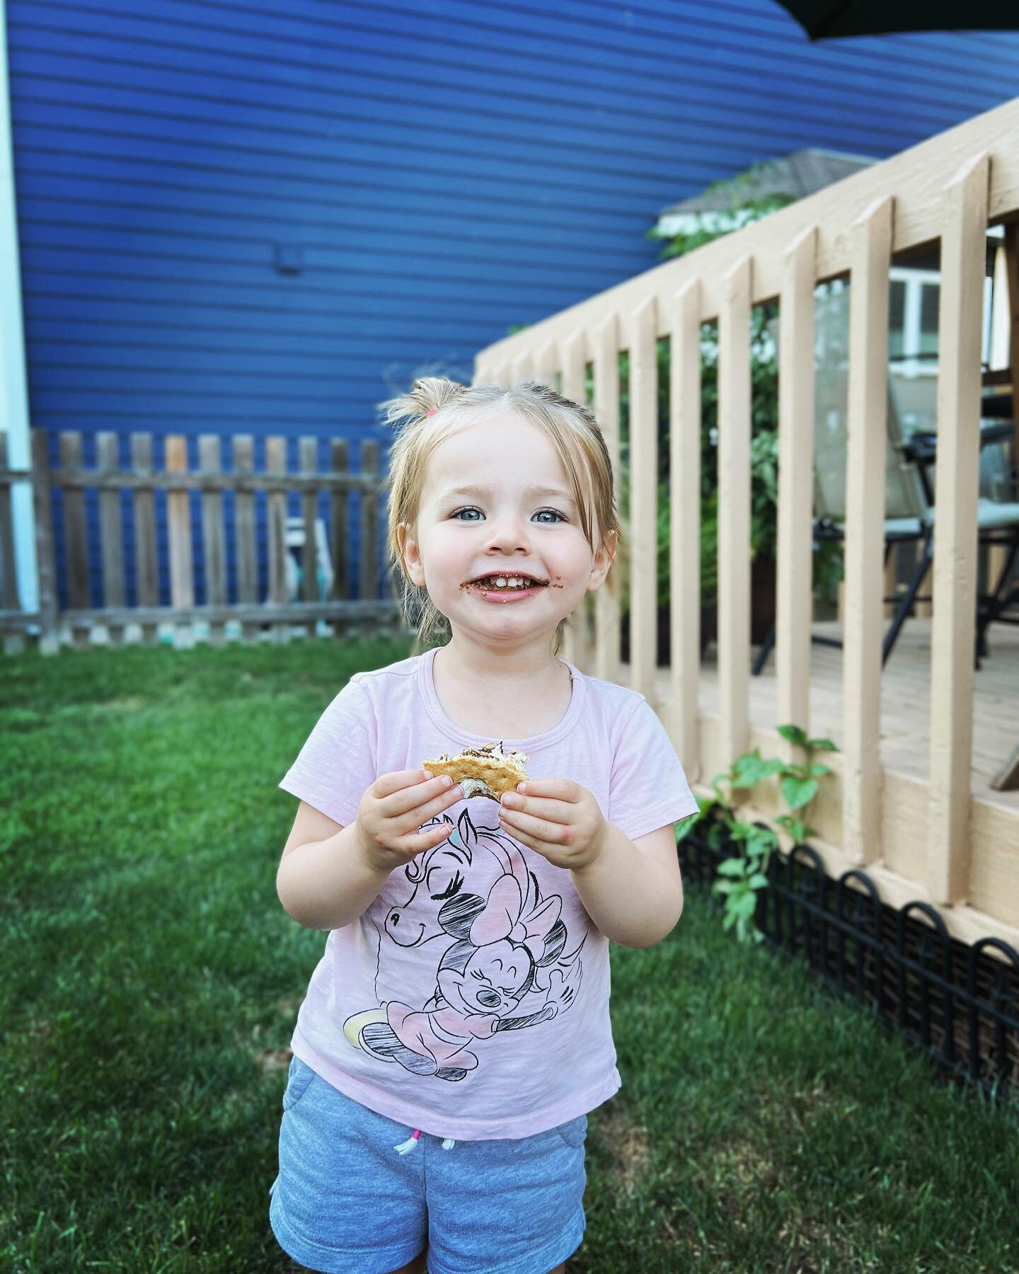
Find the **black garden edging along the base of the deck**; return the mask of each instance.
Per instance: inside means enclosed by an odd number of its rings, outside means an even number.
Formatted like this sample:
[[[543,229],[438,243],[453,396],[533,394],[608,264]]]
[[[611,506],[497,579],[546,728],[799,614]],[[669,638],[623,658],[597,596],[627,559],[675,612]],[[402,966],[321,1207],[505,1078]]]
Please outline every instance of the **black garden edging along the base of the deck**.
[[[718,862],[736,852],[712,850],[702,824],[679,842],[684,880],[707,891]],[[997,938],[958,941],[925,902],[888,906],[859,869],[833,880],[809,845],[773,852],[768,879],[754,919],[773,948],[804,957],[833,991],[865,1004],[949,1078],[992,1098],[1008,1098],[1010,1088],[1019,1094],[1019,952]]]

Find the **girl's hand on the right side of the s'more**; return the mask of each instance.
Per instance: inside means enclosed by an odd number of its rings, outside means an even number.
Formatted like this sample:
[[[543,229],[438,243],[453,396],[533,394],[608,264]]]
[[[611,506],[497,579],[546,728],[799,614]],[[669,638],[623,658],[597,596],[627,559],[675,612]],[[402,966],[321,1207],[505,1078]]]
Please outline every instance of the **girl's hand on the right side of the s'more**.
[[[529,778],[503,792],[499,826],[571,871],[595,861],[609,827],[592,794],[572,778]]]

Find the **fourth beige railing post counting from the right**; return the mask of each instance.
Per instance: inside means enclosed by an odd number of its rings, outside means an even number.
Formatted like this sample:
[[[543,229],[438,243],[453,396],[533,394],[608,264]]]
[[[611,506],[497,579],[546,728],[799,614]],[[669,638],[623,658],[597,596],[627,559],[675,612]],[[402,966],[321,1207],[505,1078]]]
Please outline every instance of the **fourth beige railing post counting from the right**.
[[[749,741],[752,260],[726,273],[718,312],[718,693],[722,762]]]

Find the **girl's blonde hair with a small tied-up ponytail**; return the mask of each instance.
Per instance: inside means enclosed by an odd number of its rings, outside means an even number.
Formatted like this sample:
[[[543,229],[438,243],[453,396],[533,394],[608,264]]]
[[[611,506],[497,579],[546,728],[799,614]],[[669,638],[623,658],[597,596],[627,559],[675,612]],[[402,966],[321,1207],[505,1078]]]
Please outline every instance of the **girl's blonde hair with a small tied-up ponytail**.
[[[446,617],[436,609],[428,591],[418,587],[406,572],[397,527],[405,526],[417,539],[424,475],[428,457],[436,447],[464,426],[495,410],[511,410],[521,420],[541,429],[555,448],[567,474],[573,501],[580,511],[581,529],[592,553],[605,548],[614,533],[622,547],[623,529],[613,498],[613,468],[605,438],[594,412],[563,397],[546,385],[526,381],[503,385],[460,385],[438,376],[414,381],[410,392],[380,404],[385,424],[405,422],[396,432],[390,451],[388,534],[386,549],[396,568],[392,578],[404,617],[417,629],[422,646],[443,631]],[[599,543],[595,544],[595,525]],[[616,558],[616,561],[619,561]],[[615,596],[616,573],[610,568],[605,581]],[[566,619],[555,628],[553,655],[558,655]]]

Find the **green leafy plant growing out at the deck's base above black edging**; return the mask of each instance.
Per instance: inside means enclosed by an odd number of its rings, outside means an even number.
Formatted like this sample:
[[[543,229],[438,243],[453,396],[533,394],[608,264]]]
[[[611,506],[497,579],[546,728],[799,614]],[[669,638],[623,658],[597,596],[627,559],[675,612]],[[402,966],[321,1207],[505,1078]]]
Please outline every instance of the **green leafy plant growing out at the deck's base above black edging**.
[[[816,828],[806,823],[806,808],[818,794],[819,781],[832,772],[828,766],[814,761],[815,752],[836,750],[830,739],[809,739],[806,731],[796,725],[781,725],[778,734],[801,748],[806,759],[797,763],[778,757],[766,758],[758,748],[745,752],[732,762],[727,772],[715,776],[711,782],[715,795],[698,801],[698,817],[688,819],[678,836],[678,840],[683,840],[694,827],[706,823],[711,848],[721,850],[723,838],[735,848],[735,854],[718,864],[720,879],[711,888],[712,893],[725,897],[722,927],[731,929],[735,925],[740,941],[759,943],[764,938],[754,913],[758,891],[768,884],[768,864],[772,851],[778,848],[778,836],[771,827],[740,819],[735,794],[778,775],[780,791],[788,805],[788,813],[780,814],[774,823],[799,845],[808,836],[818,834]]]

